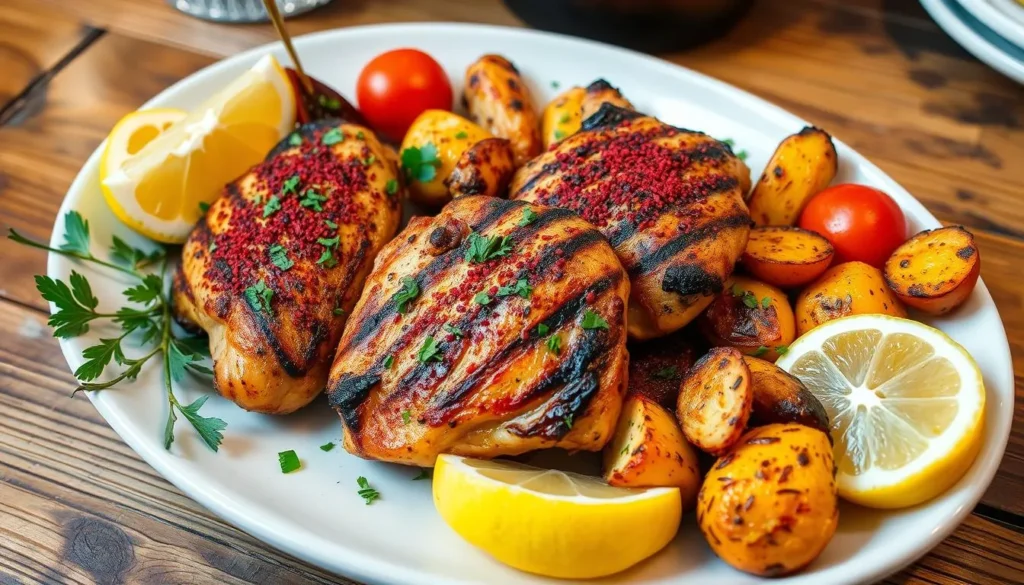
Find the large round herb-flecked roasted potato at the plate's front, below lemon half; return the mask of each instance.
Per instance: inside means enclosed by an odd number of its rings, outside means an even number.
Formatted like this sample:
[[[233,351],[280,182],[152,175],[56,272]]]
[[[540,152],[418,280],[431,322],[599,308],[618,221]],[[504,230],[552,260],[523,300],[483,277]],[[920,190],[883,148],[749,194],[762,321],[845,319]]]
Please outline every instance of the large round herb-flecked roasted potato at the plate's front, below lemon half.
[[[718,460],[697,496],[697,524],[715,554],[763,577],[800,571],[839,524],[831,445],[799,424],[755,428]]]

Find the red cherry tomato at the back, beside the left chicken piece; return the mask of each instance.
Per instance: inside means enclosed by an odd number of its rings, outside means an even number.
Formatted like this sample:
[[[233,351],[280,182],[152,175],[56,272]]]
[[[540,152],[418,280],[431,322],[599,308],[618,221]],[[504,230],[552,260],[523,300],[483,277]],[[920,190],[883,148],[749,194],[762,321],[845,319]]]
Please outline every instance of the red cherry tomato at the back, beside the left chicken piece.
[[[452,109],[452,84],[432,56],[416,49],[395,49],[362,68],[355,97],[371,125],[400,140],[424,110]]]

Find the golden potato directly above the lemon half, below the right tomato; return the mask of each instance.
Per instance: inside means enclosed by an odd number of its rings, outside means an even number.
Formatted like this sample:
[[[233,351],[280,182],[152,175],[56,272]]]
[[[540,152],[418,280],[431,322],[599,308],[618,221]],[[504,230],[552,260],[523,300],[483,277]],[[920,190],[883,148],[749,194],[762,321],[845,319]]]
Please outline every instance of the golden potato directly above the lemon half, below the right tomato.
[[[906,317],[906,309],[886,285],[882,270],[864,262],[837,264],[797,297],[797,335],[849,315]]]

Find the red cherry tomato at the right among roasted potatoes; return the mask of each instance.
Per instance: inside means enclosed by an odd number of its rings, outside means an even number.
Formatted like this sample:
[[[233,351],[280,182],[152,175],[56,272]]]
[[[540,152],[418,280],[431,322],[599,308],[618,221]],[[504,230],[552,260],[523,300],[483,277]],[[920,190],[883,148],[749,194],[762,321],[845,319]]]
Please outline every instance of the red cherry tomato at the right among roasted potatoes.
[[[838,184],[814,196],[800,215],[800,226],[831,242],[835,264],[859,260],[882,267],[906,241],[906,219],[896,202],[862,184]]]

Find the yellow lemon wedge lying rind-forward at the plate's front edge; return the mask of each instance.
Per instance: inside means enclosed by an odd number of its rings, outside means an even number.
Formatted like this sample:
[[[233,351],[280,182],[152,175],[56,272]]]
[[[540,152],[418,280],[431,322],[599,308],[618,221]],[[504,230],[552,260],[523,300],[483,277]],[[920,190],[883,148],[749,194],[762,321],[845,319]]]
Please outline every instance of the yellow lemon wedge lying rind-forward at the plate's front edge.
[[[612,488],[509,461],[437,458],[434,505],[471,544],[521,571],[588,579],[618,573],[676,535],[678,488]]]

